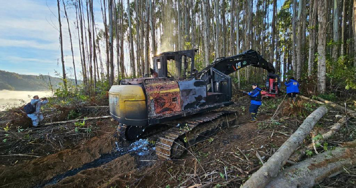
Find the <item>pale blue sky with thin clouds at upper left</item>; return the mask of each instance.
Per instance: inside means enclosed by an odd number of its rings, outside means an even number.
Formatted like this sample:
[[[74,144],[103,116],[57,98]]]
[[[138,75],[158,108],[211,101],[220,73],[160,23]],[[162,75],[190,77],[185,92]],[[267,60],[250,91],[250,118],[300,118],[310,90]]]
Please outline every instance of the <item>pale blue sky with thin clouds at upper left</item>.
[[[66,0],[65,0],[66,2]],[[100,4],[94,0],[96,19],[101,19]],[[80,68],[77,31],[73,25],[75,10],[66,7],[72,32],[75,66]],[[53,13],[52,13],[53,12]],[[66,68],[73,67],[67,20],[61,5],[63,51]],[[20,74],[50,74],[62,72],[56,0],[2,1],[0,6],[0,70]],[[103,26],[95,20],[96,27]],[[70,73],[71,72],[71,73]],[[68,72],[68,76],[73,71]]]

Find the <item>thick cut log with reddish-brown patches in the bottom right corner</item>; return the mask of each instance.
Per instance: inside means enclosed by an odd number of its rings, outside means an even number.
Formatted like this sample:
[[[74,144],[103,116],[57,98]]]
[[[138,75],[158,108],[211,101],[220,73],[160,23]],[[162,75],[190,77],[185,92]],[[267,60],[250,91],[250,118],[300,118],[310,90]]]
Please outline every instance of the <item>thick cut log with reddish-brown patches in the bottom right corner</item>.
[[[356,140],[320,153],[281,171],[265,188],[308,188],[356,167]]]

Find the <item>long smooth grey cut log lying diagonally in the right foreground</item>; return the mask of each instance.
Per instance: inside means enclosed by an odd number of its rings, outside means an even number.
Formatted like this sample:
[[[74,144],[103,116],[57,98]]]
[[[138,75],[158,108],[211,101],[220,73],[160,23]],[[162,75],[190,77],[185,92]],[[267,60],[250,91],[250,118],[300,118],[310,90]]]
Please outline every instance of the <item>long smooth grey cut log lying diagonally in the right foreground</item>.
[[[276,153],[246,181],[242,188],[261,188],[265,187],[269,181],[277,176],[278,171],[284,166],[293,151],[303,142],[305,137],[313,129],[318,120],[328,113],[326,105],[320,106],[313,111],[293,133],[289,139],[283,143]]]

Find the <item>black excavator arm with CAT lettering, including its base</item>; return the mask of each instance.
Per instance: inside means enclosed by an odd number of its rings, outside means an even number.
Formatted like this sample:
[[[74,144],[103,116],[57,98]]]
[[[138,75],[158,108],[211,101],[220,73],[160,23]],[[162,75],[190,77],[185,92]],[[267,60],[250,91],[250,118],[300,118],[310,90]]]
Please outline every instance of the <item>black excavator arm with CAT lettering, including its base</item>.
[[[195,78],[204,80],[210,86],[209,92],[226,93],[227,99],[231,99],[231,78],[229,74],[247,66],[266,69],[269,74],[276,70],[255,50],[247,50],[241,54],[231,57],[221,57],[214,60],[209,66],[200,71]]]

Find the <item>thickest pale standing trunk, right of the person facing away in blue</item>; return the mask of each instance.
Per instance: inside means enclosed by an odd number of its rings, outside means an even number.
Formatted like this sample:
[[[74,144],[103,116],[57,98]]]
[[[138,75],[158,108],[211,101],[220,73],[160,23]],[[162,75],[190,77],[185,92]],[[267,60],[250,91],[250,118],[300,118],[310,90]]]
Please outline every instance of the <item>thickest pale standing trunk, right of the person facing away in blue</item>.
[[[326,7],[328,0],[319,0],[318,18],[318,92],[324,93],[326,88],[326,15],[328,14]],[[356,0],[355,0],[356,1]]]

